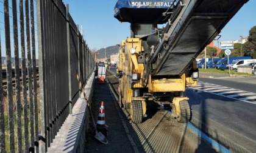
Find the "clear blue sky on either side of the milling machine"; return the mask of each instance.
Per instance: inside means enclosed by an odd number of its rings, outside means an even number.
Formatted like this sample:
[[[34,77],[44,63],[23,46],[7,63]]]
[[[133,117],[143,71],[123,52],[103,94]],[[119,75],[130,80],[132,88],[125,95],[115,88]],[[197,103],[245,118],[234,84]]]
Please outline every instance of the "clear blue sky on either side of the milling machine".
[[[130,24],[121,23],[114,18],[116,1],[63,0],[64,4],[69,4],[69,13],[76,24],[83,26],[84,38],[90,49],[114,46],[127,36],[130,37]],[[238,40],[241,39],[240,36],[247,37],[249,30],[256,25],[255,15],[256,1],[250,0],[222,29],[219,42]],[[217,41],[215,46],[218,46]]]

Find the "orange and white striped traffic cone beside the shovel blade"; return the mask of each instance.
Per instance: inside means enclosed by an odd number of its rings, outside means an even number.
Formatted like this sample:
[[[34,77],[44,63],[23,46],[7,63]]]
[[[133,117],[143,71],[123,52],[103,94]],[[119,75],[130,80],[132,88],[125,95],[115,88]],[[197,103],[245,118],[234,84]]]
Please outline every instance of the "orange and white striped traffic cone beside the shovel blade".
[[[96,127],[99,132],[101,132],[105,136],[108,135],[108,126],[105,124],[105,109],[103,101],[101,101],[101,107],[99,107],[99,116]]]

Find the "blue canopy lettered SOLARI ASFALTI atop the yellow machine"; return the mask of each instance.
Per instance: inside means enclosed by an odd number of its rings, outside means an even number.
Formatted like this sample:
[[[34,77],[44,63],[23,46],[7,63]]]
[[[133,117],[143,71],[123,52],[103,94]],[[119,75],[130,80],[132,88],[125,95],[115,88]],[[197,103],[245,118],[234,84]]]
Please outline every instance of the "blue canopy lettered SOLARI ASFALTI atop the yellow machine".
[[[169,8],[173,9],[179,1],[118,0],[114,16],[120,22],[163,24],[167,19],[162,14]]]

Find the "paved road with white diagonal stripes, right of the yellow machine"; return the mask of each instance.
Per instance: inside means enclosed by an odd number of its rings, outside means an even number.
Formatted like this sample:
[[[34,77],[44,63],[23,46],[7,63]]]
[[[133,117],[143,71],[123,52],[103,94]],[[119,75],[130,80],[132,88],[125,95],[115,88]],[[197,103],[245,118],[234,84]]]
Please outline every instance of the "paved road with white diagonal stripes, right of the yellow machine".
[[[254,152],[256,78],[199,80],[199,87],[186,92],[193,114],[191,123],[226,144],[232,152]]]

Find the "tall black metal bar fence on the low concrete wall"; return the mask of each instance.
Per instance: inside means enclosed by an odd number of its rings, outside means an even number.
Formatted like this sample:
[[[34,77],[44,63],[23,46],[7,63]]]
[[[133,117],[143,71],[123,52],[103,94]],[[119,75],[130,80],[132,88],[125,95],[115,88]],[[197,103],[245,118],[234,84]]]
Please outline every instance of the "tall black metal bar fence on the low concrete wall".
[[[94,70],[93,56],[61,0],[1,4],[0,152],[46,152],[72,114],[78,80],[84,87]]]

